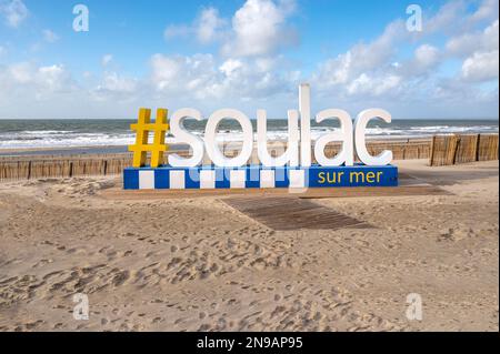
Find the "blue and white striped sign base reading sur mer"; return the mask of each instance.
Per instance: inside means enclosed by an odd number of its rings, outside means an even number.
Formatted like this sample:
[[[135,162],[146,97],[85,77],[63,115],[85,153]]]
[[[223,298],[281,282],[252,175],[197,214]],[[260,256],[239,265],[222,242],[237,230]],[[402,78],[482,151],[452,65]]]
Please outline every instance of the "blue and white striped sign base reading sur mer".
[[[392,165],[324,168],[243,168],[171,166],[127,168],[123,170],[126,190],[184,189],[272,189],[334,186],[397,186],[398,169]]]

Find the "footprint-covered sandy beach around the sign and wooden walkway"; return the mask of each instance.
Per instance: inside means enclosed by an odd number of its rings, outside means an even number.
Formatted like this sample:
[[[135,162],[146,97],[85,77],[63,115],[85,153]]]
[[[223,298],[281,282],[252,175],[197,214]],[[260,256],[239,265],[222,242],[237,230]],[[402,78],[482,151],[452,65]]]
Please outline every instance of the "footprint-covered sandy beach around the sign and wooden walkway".
[[[118,198],[119,176],[2,182],[0,330],[498,331],[498,161],[396,164],[448,193],[312,199],[371,225],[334,231],[270,230],[231,195]]]

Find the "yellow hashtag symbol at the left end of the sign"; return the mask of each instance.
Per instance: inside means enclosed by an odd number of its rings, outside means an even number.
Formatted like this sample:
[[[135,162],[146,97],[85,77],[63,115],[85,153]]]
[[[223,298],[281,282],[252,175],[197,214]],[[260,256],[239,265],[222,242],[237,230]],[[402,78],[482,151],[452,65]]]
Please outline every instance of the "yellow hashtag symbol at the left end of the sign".
[[[164,135],[169,130],[167,114],[168,110],[158,109],[157,119],[151,123],[151,110],[144,108],[139,110],[139,120],[130,125],[132,131],[136,131],[136,144],[129,145],[129,151],[133,152],[134,168],[142,168],[146,164],[148,151],[151,152],[151,168],[158,168],[163,163],[163,153],[168,150],[164,143]],[[149,144],[150,131],[154,132],[152,144]]]

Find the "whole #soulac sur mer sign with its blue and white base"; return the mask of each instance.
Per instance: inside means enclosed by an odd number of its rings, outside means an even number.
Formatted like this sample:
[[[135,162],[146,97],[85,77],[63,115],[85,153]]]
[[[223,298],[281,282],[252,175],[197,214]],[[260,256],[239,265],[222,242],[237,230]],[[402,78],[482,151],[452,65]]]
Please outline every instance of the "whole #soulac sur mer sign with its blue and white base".
[[[398,169],[391,165],[392,152],[383,151],[371,155],[366,144],[366,130],[370,120],[391,122],[389,112],[381,109],[368,109],[358,114],[354,121],[348,112],[340,109],[327,109],[316,114],[318,123],[338,120],[340,129],[324,133],[311,141],[310,87],[299,88],[299,109],[288,111],[288,143],[279,156],[268,150],[267,113],[257,111],[257,139],[250,119],[241,111],[221,109],[213,112],[206,125],[203,139],[189,132],[186,119],[201,121],[203,118],[196,109],[176,111],[170,122],[168,111],[159,109],[156,121],[151,122],[151,111],[141,109],[139,119],[131,129],[136,131],[133,166],[123,170],[126,190],[143,189],[249,189],[249,188],[334,188],[334,186],[396,186]],[[228,158],[220,150],[217,135],[218,127],[224,119],[236,120],[242,129],[241,149],[236,156]],[[166,134],[173,135],[173,143],[190,146],[190,156],[169,153]],[[153,141],[149,143],[152,133]],[[257,143],[257,146],[254,144]],[[329,143],[340,143],[341,148],[333,158],[328,158],[324,148]],[[248,164],[257,148],[259,164]],[[312,163],[312,150],[317,163]],[[359,163],[354,163],[354,151]],[[148,153],[151,154],[147,165]],[[211,164],[202,164],[207,155]]]

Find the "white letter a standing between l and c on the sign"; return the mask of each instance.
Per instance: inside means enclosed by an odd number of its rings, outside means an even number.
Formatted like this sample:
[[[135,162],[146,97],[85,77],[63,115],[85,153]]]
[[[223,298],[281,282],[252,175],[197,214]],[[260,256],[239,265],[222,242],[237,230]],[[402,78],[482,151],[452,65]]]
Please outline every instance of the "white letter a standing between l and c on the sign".
[[[324,134],[316,141],[316,160],[322,166],[340,166],[342,163],[346,163],[347,166],[351,166],[354,164],[351,117],[346,111],[330,109],[319,112],[316,115],[316,121],[321,123],[323,120],[329,118],[337,118],[339,120],[340,130],[338,132]],[[341,141],[342,146],[337,156],[328,159],[324,155],[324,148],[332,141]]]

